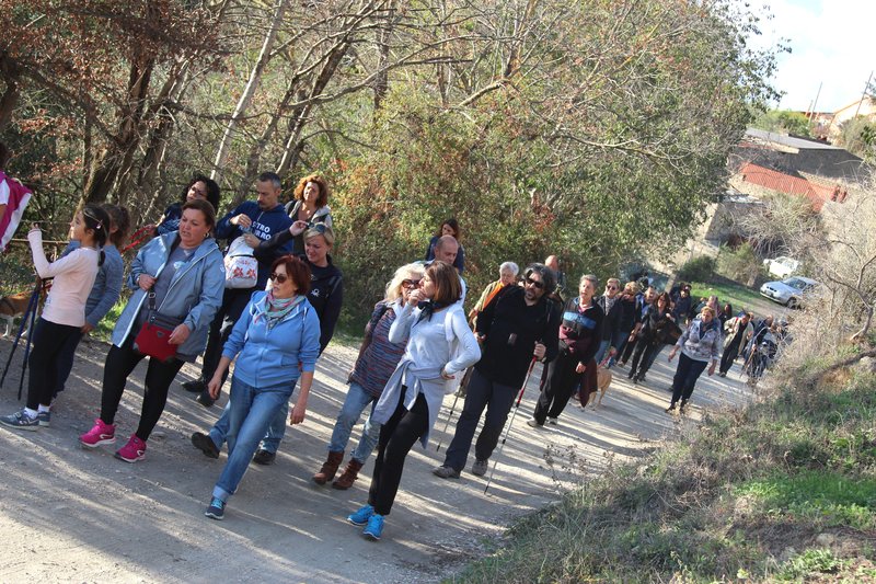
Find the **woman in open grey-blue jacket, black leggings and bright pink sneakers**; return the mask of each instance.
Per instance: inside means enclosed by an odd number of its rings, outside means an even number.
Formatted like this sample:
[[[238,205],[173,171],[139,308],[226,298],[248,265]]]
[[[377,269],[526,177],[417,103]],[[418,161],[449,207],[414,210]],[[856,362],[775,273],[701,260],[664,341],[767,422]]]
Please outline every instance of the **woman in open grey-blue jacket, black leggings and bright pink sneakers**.
[[[168,388],[183,363],[194,363],[204,351],[207,329],[222,301],[224,266],[210,237],[215,226],[212,205],[189,201],[183,205],[180,230],[153,239],[137,253],[128,276],[128,286],[135,291],[113,330],[113,346],[103,368],[101,416],[79,437],[82,446],[94,448],[116,440],[114,421],[125,383],[146,356],[134,342],[154,302],[159,314],[180,322],[169,337],[169,343],[176,345],[176,355],[168,360],[149,358],[139,426],[116,453],[125,462],[146,457],[146,440],[164,411]]]

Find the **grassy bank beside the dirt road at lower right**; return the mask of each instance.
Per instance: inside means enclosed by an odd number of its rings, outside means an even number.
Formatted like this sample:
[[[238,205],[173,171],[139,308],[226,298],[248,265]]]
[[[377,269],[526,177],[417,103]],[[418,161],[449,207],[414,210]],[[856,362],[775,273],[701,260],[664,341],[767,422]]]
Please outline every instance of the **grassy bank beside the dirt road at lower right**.
[[[876,376],[760,403],[515,524],[454,582],[876,581]]]

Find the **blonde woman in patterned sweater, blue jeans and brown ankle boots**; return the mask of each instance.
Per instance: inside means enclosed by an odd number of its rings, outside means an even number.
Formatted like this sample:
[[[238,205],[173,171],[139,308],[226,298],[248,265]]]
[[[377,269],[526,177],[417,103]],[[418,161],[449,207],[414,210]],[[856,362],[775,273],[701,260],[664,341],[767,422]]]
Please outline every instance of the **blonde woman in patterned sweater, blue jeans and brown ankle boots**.
[[[359,416],[368,405],[371,405],[371,413],[373,413],[374,404],[383,392],[383,387],[402,359],[407,344],[407,335],[403,335],[401,340],[393,343],[389,339],[390,327],[395,322],[402,307],[407,304],[411,293],[419,287],[424,270],[423,264],[418,263],[403,265],[396,270],[395,275],[387,284],[385,298],[374,306],[371,319],[365,327],[365,339],[359,347],[359,356],[347,379],[349,390],[347,390],[347,398],[341,406],[335,427],[332,431],[328,458],[320,471],[313,476],[316,484],[325,484],[334,478],[344,459],[344,449],[349,442],[353,426],[359,422]],[[369,415],[365,421],[359,445],[347,462],[347,468],[332,483],[333,488],[346,490],[353,486],[359,476],[359,470],[377,446],[379,437],[380,424],[372,423]]]

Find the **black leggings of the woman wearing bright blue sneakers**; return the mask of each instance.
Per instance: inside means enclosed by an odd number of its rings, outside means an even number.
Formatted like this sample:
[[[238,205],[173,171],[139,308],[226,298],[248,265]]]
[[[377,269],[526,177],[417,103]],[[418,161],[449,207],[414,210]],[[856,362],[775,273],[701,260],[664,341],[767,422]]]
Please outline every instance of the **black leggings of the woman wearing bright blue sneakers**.
[[[429,406],[426,398],[419,393],[408,411],[404,406],[406,391],[407,388],[403,388],[395,412],[380,428],[374,473],[368,490],[368,504],[380,515],[390,514],[402,482],[404,459],[414,444],[429,430]]]

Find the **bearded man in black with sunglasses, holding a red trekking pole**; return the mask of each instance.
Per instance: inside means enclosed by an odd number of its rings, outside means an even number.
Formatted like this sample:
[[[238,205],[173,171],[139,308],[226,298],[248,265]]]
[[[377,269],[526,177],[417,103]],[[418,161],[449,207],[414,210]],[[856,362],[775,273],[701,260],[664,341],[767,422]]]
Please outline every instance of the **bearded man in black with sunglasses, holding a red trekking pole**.
[[[479,477],[486,473],[487,461],[531,360],[548,363],[556,356],[560,320],[546,298],[555,283],[553,271],[531,264],[525,272],[522,288],[506,287],[477,316],[475,332],[483,343],[481,360],[469,381],[465,406],[445,462],[433,471],[436,476],[459,478],[485,408],[486,419],[474,446],[472,473]]]

